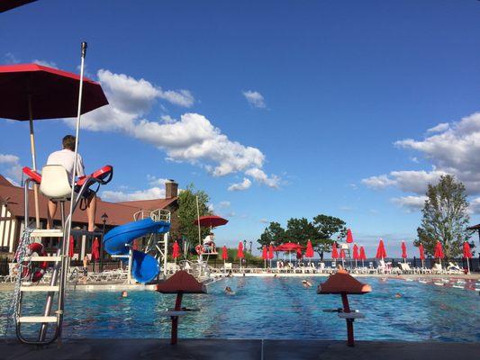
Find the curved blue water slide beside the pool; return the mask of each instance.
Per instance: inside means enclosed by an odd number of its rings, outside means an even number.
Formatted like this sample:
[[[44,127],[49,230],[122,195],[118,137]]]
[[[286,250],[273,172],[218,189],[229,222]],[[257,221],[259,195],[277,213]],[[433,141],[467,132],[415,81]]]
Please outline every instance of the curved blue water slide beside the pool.
[[[143,219],[128,222],[108,231],[104,236],[104,249],[110,255],[128,255],[130,245],[135,238],[147,234],[165,233],[170,229],[166,221]],[[148,283],[158,275],[160,268],[155,257],[133,250],[131,275],[139,283]]]

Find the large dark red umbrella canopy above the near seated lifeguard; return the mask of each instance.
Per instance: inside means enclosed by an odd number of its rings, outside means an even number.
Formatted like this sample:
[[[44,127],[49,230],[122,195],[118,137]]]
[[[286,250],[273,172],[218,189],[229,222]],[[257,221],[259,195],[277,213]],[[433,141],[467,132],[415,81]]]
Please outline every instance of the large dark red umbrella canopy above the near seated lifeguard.
[[[57,68],[0,66],[0,117],[19,121],[76,117],[79,84],[80,76]],[[106,104],[102,86],[84,76],[81,113]]]

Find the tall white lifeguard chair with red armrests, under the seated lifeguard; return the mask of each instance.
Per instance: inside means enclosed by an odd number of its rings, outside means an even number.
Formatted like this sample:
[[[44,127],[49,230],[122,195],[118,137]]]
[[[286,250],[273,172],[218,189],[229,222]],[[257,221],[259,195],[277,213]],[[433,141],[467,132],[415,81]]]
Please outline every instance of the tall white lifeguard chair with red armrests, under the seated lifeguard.
[[[32,345],[46,345],[55,341],[61,334],[61,327],[64,316],[64,300],[65,288],[67,284],[68,273],[68,226],[71,222],[73,212],[77,209],[83,195],[89,190],[93,184],[108,184],[113,177],[113,167],[104,166],[95,171],[95,173],[83,176],[78,179],[75,184],[75,198],[70,199],[72,188],[68,181],[67,171],[60,165],[44,166],[41,175],[30,167],[23,167],[23,174],[27,176],[24,182],[24,197],[25,197],[25,228],[29,226],[29,186],[30,183],[40,185],[41,193],[49,199],[60,203],[61,229],[32,229],[25,232],[19,250],[17,250],[17,261],[20,263],[22,272],[20,275],[20,286],[18,292],[14,294],[15,303],[15,329],[17,338],[25,344]],[[98,188],[96,189],[96,191]],[[95,192],[96,192],[95,191]],[[72,201],[72,211],[65,218],[65,202]],[[48,257],[44,250],[42,250],[41,238],[59,238],[58,248],[55,256]],[[33,242],[32,239],[35,239]],[[37,255],[32,253],[32,248],[36,249]],[[48,268],[48,263],[53,262],[53,271],[50,278],[49,285],[32,285],[33,282],[41,280],[41,276]],[[37,275],[38,270],[35,271],[31,264],[40,263],[40,268],[43,270],[41,275]],[[24,293],[47,293],[47,299],[44,305],[42,315],[23,316],[23,300]],[[57,307],[52,311],[52,304],[57,298]],[[27,339],[22,334],[23,323],[38,323],[41,324],[39,336],[36,340]],[[49,324],[55,324],[55,330],[51,338],[47,339],[47,329]]]

